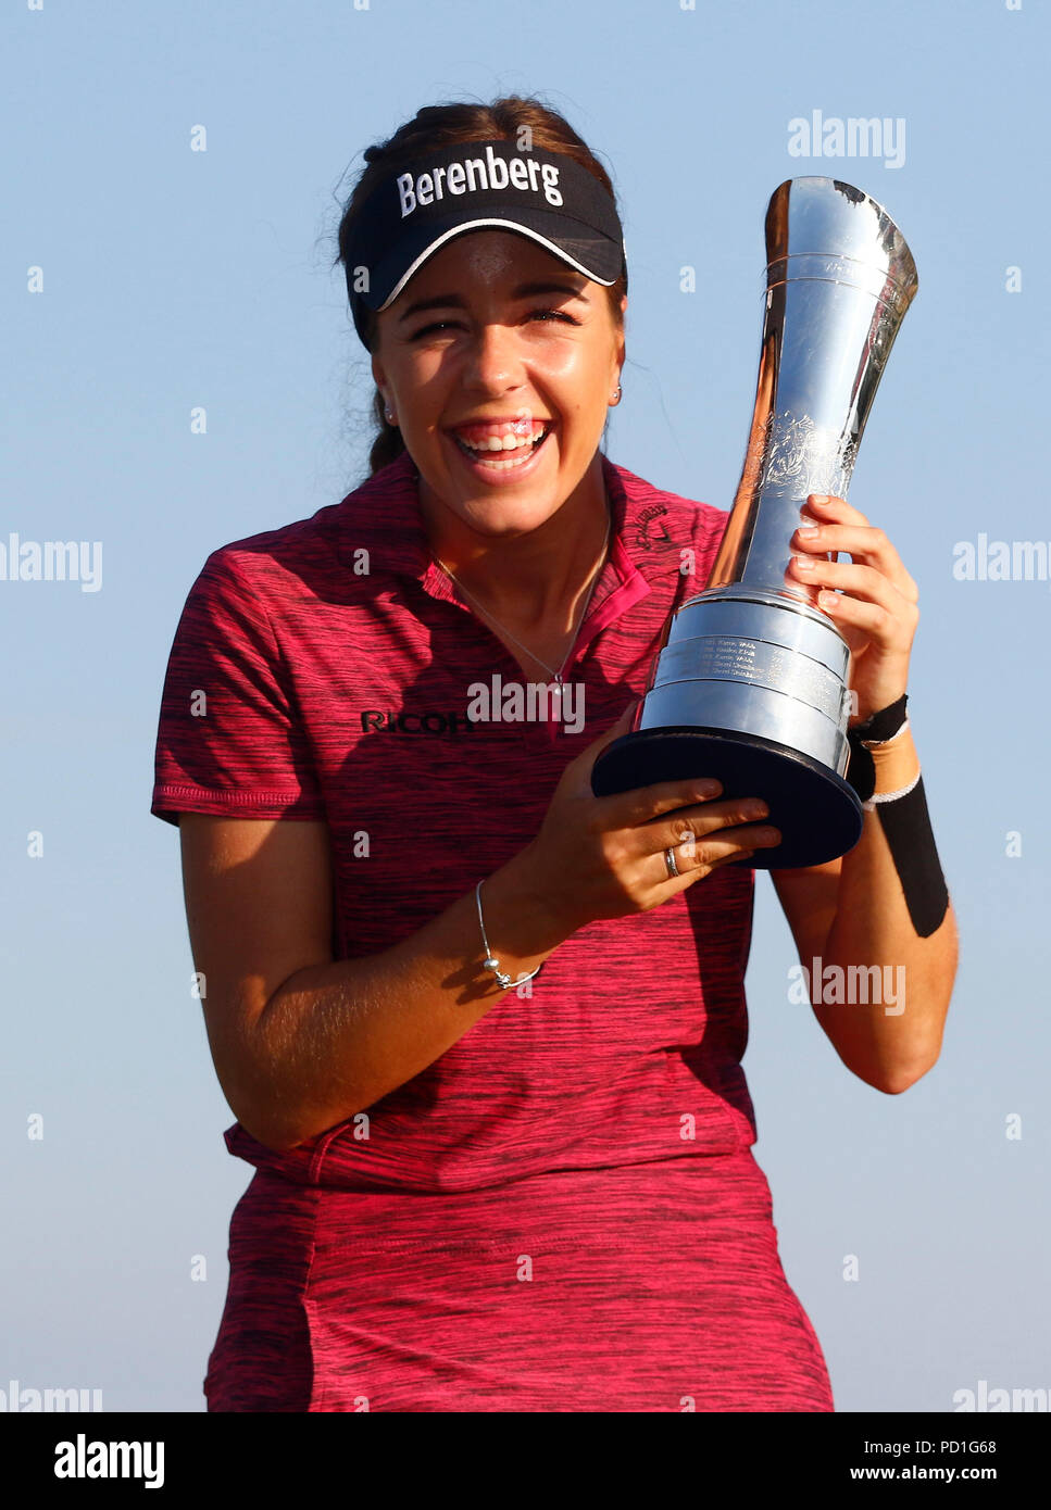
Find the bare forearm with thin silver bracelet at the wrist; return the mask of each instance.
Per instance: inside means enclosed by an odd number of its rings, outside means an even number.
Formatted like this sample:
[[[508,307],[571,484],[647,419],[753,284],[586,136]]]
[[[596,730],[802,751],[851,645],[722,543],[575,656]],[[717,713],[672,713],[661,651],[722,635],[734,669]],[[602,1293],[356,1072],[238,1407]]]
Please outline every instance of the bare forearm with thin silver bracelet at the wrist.
[[[533,892],[527,856],[519,852],[482,886],[489,947],[513,978],[562,942]],[[412,1080],[515,991],[497,986],[483,957],[471,888],[382,953],[297,971],[254,1024],[242,1123],[270,1148],[291,1148]]]

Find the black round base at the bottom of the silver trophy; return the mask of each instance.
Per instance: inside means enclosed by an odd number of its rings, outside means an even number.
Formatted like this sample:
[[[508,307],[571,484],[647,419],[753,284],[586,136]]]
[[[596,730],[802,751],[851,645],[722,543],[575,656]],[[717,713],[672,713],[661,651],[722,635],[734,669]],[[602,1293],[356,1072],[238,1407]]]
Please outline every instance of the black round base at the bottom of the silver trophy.
[[[705,776],[722,782],[716,802],[761,797],[770,808],[763,821],[782,835],[776,847],[757,849],[747,861],[731,864],[754,870],[823,865],[846,855],[861,838],[865,809],[843,776],[776,740],[729,729],[690,725],[624,734],[595,761],[592,793],[613,797],[658,781]]]

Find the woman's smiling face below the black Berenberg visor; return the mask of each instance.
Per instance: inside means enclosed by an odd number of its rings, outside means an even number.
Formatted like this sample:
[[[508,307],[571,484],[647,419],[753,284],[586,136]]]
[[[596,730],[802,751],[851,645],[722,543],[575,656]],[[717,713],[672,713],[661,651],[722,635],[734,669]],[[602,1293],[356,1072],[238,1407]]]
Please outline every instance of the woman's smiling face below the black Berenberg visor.
[[[378,316],[371,365],[432,516],[501,536],[571,497],[603,500],[598,442],[622,364],[601,284],[526,236],[470,231]]]

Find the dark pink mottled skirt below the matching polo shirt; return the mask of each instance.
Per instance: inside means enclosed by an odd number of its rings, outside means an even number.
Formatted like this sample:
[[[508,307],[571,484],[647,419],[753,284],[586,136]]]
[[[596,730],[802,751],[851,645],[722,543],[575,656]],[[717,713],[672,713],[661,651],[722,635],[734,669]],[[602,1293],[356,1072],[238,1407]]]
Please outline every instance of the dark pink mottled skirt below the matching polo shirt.
[[[459,1193],[257,1170],[208,1410],[834,1410],[750,1149]]]

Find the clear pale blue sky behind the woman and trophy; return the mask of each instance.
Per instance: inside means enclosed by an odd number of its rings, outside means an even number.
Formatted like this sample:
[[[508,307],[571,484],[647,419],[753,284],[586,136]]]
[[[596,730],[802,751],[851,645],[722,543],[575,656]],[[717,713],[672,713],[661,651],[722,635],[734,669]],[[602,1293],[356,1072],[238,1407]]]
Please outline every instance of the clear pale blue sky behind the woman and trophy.
[[[189,994],[178,838],[148,811],[168,649],[211,550],[364,474],[371,390],[329,270],[362,149],[421,104],[509,92],[539,92],[612,171],[630,307],[607,450],[657,486],[732,500],[784,178],[858,184],[914,251],[920,293],[850,497],[921,589],[911,716],[962,933],[945,1046],[903,1096],[853,1078],[788,1000],[791,935],[760,876],[744,1069],[837,1407],[1051,1385],[1051,586],[953,574],[980,535],[1051,539],[1048,41],[1036,0],[5,9],[0,542],[101,542],[101,586],[0,580],[17,1234],[0,1386],[204,1409],[251,1169],[222,1143],[233,1116]],[[815,110],[892,122],[897,160],[793,156],[790,122]]]

